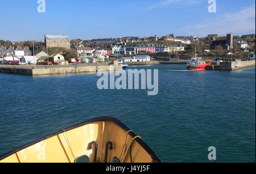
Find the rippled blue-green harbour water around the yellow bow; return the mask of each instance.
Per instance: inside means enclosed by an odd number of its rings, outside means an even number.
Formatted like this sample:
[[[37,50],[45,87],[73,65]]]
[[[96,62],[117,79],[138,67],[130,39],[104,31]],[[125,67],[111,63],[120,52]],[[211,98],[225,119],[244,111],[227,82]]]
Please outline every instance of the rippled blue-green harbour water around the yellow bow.
[[[89,118],[121,120],[163,162],[255,162],[255,67],[239,71],[159,69],[159,93],[98,90],[96,74],[0,74],[0,154]]]

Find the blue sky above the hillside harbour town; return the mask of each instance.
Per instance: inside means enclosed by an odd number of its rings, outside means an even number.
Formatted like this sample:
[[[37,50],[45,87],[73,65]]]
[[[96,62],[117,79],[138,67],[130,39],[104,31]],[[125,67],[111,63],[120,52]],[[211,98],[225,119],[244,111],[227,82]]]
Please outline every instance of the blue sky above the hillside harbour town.
[[[1,0],[0,40],[31,40],[28,33],[68,35],[71,39],[120,36],[205,37],[255,33],[254,0],[216,0],[217,12],[208,12],[208,0]]]

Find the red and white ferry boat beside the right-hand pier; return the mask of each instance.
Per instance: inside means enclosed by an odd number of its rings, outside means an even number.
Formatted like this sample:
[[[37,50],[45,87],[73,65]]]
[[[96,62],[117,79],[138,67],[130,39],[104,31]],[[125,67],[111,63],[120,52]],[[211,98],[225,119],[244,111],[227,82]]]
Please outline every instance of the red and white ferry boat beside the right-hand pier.
[[[205,70],[205,67],[211,63],[205,63],[203,57],[192,57],[187,63],[187,70]]]

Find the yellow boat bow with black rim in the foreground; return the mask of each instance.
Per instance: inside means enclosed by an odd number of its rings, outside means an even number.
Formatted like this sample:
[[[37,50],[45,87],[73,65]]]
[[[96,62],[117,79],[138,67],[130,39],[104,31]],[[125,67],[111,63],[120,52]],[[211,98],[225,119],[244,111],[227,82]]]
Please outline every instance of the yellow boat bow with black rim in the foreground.
[[[98,117],[62,129],[0,156],[0,163],[159,163],[146,143],[113,117]]]

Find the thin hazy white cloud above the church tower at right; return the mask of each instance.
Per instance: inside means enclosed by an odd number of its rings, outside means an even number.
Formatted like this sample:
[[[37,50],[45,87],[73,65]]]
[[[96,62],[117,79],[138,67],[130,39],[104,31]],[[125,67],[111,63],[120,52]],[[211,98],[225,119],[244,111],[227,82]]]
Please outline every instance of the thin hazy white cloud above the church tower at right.
[[[185,27],[184,31],[199,37],[205,37],[209,33],[218,35],[225,35],[226,32],[233,32],[237,35],[253,31],[255,33],[255,5],[238,12],[218,15],[201,24]]]

